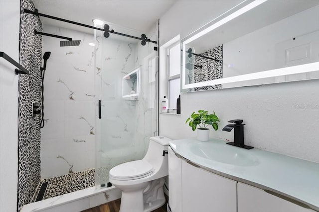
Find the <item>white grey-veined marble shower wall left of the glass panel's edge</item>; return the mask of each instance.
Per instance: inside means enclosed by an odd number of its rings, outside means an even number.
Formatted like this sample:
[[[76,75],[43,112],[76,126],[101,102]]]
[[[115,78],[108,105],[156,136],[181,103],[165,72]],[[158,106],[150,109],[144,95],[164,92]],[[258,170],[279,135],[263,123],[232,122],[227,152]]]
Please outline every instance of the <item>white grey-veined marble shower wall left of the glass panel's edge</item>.
[[[43,36],[51,52],[44,76],[44,128],[41,129],[41,178],[95,168],[94,36],[43,25],[43,32],[81,40],[59,47]]]

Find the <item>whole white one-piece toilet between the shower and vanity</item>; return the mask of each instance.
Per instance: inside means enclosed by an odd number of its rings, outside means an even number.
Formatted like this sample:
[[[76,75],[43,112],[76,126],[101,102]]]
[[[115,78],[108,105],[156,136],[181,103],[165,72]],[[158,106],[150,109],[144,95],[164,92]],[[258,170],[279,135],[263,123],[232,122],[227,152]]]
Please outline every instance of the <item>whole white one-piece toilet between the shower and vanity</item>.
[[[162,136],[151,137],[142,160],[123,163],[110,170],[110,182],[122,191],[120,212],[151,212],[164,205],[169,141]]]

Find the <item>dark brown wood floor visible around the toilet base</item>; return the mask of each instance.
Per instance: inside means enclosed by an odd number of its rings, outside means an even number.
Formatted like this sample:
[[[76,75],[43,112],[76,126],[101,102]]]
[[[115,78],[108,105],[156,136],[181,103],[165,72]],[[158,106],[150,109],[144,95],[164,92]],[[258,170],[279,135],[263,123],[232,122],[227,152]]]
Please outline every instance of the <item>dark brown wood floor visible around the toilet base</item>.
[[[118,199],[118,200],[114,200],[112,202],[103,204],[101,206],[97,206],[92,209],[85,210],[83,212],[119,212],[120,205],[121,205],[121,199]],[[167,212],[166,205],[167,205],[167,198],[166,198],[166,203],[162,207],[160,207],[159,209],[153,212]]]

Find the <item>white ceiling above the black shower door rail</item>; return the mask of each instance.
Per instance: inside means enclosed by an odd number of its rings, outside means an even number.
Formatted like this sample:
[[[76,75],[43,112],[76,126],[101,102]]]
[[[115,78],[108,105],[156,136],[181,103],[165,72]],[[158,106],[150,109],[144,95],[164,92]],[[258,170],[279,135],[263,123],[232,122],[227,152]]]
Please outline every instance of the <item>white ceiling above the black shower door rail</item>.
[[[149,32],[156,21],[176,0],[33,0],[39,13],[94,26],[92,19],[101,19],[124,27]],[[49,24],[87,33],[93,29],[40,17]]]

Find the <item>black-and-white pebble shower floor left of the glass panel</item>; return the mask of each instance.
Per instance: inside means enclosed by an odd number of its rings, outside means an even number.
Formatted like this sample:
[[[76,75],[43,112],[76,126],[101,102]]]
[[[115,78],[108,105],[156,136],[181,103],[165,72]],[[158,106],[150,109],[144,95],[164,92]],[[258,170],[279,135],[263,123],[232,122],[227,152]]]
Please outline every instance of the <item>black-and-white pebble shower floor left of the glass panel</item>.
[[[44,191],[43,198],[40,200],[49,199],[95,186],[95,169],[41,180],[32,197],[31,203],[36,202],[41,186],[46,182],[47,187]]]

